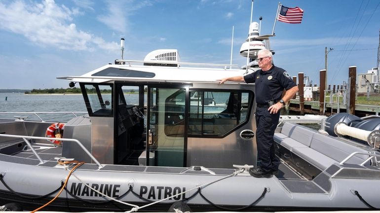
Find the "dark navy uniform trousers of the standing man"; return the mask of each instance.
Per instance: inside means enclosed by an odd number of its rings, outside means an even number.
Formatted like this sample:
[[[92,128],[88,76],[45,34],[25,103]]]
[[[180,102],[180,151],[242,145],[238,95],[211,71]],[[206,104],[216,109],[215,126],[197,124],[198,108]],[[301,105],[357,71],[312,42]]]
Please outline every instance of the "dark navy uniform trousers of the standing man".
[[[264,172],[278,170],[279,159],[275,156],[274,131],[280,119],[280,112],[270,114],[268,107],[256,107],[256,144],[257,160]]]

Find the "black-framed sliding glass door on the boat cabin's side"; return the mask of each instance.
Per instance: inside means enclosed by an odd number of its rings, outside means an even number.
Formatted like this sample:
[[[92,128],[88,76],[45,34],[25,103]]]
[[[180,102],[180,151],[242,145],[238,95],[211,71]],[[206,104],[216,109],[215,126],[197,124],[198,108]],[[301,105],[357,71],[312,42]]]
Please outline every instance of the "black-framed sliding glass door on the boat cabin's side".
[[[147,165],[186,166],[189,89],[148,86]]]

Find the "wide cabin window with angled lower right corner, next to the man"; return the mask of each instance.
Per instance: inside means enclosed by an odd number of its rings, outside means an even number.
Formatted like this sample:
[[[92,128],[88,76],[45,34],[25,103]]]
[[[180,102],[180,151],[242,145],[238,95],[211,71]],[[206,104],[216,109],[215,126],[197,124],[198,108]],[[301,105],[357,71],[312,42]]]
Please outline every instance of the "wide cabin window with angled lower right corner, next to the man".
[[[190,136],[223,136],[247,120],[249,92],[190,91]]]

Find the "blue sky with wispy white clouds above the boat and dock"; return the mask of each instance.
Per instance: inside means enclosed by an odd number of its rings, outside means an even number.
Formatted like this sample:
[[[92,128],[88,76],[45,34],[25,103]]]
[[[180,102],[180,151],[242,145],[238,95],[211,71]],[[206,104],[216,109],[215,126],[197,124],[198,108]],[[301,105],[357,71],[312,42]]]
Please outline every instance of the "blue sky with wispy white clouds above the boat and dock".
[[[0,89],[68,87],[57,76],[80,75],[120,58],[143,60],[178,49],[182,62],[233,64],[248,35],[251,0],[0,0]],[[274,63],[319,83],[325,47],[328,83],[347,81],[348,67],[377,66],[379,0],[283,0],[304,10],[302,24],[277,22]],[[271,34],[278,1],[255,0],[253,21]],[[218,76],[215,76],[218,79]]]

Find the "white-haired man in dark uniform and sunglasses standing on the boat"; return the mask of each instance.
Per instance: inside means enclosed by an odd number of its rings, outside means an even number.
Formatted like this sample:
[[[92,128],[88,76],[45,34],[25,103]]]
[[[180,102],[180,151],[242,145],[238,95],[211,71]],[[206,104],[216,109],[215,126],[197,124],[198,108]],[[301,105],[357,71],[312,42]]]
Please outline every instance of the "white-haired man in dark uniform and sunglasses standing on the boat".
[[[255,83],[257,160],[261,162],[261,166],[250,169],[249,173],[256,178],[269,178],[277,172],[280,164],[279,159],[275,157],[273,141],[274,131],[280,118],[279,110],[296,95],[298,87],[288,72],[272,64],[272,53],[269,50],[260,50],[257,61],[261,70],[245,76],[223,78],[219,81],[220,83],[228,80]],[[286,93],[281,98],[284,89]]]

